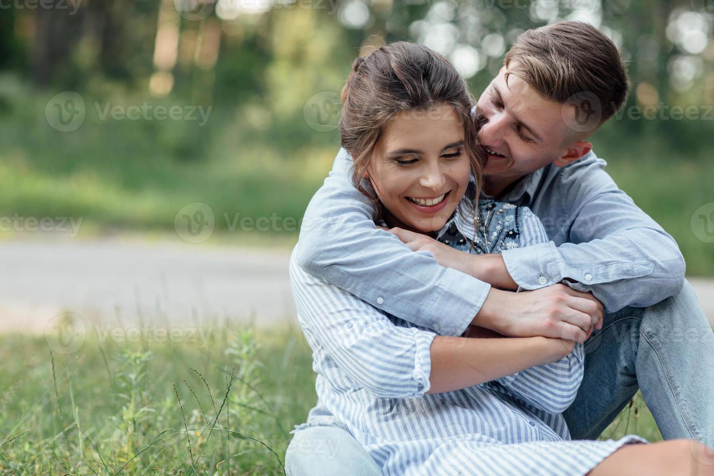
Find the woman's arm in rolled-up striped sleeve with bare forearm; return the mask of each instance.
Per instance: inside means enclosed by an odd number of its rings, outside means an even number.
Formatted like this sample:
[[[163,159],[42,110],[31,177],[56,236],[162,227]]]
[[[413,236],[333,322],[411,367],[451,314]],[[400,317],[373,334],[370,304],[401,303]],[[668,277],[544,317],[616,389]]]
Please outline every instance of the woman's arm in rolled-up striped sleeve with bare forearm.
[[[308,275],[294,259],[290,275],[313,350],[376,397],[460,390],[553,362],[572,348],[562,339],[455,338],[399,327],[363,300]]]

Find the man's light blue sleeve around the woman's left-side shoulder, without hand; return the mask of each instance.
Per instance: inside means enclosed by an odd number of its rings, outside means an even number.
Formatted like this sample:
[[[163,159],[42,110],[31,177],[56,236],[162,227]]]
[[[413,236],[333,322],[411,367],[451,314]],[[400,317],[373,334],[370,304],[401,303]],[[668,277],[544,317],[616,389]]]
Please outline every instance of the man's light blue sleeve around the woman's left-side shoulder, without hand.
[[[376,228],[373,204],[350,181],[351,162],[341,149],[310,201],[296,246],[298,265],[398,318],[441,335],[461,335],[491,285],[444,268],[430,253],[412,253]]]

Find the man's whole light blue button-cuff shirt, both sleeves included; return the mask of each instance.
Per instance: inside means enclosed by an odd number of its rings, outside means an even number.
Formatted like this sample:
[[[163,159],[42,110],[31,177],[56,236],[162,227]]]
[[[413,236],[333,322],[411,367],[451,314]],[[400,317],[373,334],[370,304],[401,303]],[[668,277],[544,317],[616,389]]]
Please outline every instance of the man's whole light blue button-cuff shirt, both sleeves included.
[[[376,228],[375,208],[351,184],[351,165],[341,149],[310,201],[298,265],[398,318],[461,335],[491,285],[444,268],[428,251],[412,252]],[[562,168],[551,163],[498,197],[530,207],[550,239],[503,251],[521,289],[563,283],[592,291],[606,312],[647,307],[680,291],[685,263],[677,243],[615,185],[606,165],[592,152]]]

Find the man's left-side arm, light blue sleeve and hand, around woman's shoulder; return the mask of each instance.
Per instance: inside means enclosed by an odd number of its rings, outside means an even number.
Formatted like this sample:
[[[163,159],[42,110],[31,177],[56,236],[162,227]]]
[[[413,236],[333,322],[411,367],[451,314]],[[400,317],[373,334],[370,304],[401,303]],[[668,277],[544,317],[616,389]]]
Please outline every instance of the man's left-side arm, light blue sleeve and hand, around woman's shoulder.
[[[441,335],[461,335],[473,323],[506,335],[583,341],[586,328],[572,322],[575,291],[561,286],[514,298],[485,280],[443,267],[428,251],[413,253],[376,228],[373,204],[352,186],[350,167],[351,158],[341,149],[305,212],[296,259],[307,273]],[[538,330],[533,319],[521,319],[523,309],[541,323]]]

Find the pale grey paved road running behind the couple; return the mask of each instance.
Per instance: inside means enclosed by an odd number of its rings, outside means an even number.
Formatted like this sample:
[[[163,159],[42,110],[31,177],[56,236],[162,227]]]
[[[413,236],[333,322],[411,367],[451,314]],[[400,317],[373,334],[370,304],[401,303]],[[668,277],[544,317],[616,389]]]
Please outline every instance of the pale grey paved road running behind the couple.
[[[93,323],[295,323],[288,250],[164,240],[0,243],[0,330],[42,332],[74,312]],[[714,325],[714,280],[690,279]]]

